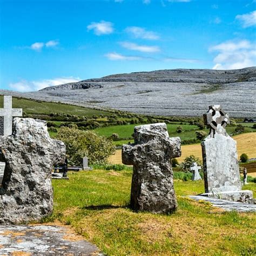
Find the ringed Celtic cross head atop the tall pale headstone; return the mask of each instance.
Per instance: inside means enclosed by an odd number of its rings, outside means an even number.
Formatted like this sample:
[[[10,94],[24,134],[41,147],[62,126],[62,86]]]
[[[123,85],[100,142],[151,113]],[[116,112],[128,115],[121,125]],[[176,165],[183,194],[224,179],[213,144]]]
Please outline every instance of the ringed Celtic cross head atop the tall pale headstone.
[[[218,124],[220,124],[225,129],[226,125],[230,123],[228,114],[222,109],[220,105],[209,106],[206,117],[207,124],[210,125],[214,130],[217,129]]]

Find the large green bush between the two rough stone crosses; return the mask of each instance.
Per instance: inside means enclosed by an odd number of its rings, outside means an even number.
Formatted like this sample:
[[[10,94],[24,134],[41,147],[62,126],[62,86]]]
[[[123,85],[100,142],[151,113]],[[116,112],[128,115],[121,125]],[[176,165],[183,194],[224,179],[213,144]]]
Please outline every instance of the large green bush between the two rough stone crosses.
[[[92,131],[62,127],[56,138],[65,143],[66,155],[71,165],[82,165],[84,156],[88,157],[90,164],[106,164],[114,152],[112,140]]]

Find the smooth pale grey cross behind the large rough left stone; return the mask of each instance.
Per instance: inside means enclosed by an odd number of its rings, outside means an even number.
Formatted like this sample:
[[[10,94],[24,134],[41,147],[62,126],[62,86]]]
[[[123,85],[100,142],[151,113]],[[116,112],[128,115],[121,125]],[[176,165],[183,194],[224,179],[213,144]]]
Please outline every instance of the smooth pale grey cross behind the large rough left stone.
[[[4,117],[4,136],[12,134],[12,117],[22,117],[22,109],[12,109],[12,96],[4,96],[4,108],[0,109]]]

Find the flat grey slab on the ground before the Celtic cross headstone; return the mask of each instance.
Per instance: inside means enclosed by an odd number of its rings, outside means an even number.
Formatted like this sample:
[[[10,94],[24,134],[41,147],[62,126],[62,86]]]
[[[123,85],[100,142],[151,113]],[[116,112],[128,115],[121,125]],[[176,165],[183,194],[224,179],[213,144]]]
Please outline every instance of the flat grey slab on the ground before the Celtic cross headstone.
[[[204,200],[212,203],[214,207],[223,208],[225,211],[237,211],[237,212],[256,212],[256,204],[244,204],[239,202],[227,201],[222,199],[214,199],[203,196],[189,196],[194,200]]]

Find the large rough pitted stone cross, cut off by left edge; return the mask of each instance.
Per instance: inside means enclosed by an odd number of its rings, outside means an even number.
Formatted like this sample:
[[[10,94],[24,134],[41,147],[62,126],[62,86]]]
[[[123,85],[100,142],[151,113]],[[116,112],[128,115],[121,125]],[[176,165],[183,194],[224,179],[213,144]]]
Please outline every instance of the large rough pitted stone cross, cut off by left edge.
[[[15,118],[13,133],[2,137],[0,152],[6,163],[0,223],[25,223],[51,214],[51,169],[64,162],[64,143],[50,138],[45,121]]]

